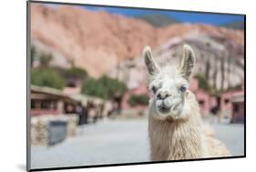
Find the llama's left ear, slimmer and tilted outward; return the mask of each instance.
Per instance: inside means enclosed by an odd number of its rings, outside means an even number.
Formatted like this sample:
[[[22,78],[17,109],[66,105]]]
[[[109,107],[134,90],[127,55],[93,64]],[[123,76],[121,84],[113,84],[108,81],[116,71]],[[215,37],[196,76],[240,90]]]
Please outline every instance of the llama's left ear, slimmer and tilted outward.
[[[151,48],[149,46],[146,46],[143,51],[143,56],[145,60],[145,64],[148,69],[148,73],[150,76],[156,76],[160,72],[160,67],[154,60],[151,52]]]

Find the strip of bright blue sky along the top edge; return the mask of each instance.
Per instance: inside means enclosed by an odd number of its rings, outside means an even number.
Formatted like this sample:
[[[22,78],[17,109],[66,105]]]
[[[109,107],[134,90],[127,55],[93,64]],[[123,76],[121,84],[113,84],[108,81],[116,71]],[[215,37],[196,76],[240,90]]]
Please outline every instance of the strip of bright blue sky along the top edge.
[[[111,14],[118,15],[145,15],[145,14],[161,14],[167,15],[176,19],[179,22],[187,23],[203,23],[210,25],[223,25],[233,21],[243,21],[243,15],[218,15],[218,14],[201,14],[201,13],[189,13],[189,12],[177,12],[177,11],[160,11],[160,10],[148,10],[148,9],[131,9],[131,8],[116,8],[116,7],[102,7],[102,6],[84,6],[91,11],[107,11]]]

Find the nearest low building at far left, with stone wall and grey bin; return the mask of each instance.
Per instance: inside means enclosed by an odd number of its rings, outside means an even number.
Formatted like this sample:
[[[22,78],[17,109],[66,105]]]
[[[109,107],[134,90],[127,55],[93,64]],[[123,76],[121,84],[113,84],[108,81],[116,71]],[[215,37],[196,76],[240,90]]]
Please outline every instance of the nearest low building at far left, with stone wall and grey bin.
[[[30,92],[32,145],[51,146],[76,136],[80,101],[46,86],[31,86]]]

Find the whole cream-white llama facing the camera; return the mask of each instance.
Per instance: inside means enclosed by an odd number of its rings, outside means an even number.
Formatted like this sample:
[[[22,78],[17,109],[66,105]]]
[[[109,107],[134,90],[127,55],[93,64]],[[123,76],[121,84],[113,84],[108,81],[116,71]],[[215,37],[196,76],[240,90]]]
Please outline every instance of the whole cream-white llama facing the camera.
[[[230,156],[216,138],[207,136],[200,107],[189,91],[189,78],[196,58],[190,46],[183,46],[177,67],[160,68],[150,47],[143,52],[151,92],[148,135],[153,161]]]

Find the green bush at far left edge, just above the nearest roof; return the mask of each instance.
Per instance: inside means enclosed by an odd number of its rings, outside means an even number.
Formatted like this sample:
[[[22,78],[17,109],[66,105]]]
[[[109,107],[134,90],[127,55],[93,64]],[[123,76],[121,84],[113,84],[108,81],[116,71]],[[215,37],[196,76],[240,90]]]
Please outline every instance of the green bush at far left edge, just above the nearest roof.
[[[52,68],[32,68],[31,83],[36,86],[49,86],[56,89],[66,86],[65,79]]]

